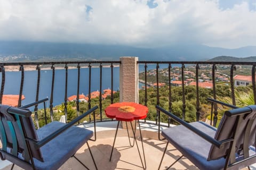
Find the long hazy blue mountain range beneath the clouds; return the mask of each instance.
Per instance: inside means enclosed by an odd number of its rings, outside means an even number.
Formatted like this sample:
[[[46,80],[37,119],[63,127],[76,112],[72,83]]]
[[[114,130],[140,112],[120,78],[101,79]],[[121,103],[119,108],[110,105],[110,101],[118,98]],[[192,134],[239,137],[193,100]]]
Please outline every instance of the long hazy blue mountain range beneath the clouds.
[[[22,55],[21,55],[22,54]],[[256,46],[236,49],[180,44],[161,48],[122,45],[0,41],[0,58],[26,56],[26,60],[119,60],[120,56],[138,56],[140,61],[201,61],[215,56],[256,56]],[[14,59],[12,58],[12,61]]]

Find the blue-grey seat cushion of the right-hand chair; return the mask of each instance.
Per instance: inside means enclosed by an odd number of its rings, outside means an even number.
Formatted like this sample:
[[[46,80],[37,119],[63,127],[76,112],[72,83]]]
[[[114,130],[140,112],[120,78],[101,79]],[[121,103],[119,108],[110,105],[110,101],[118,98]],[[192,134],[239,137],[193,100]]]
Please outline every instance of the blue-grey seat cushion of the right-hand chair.
[[[212,138],[214,138],[217,130],[204,122],[193,122],[190,125],[210,135]],[[162,135],[199,169],[221,169],[225,165],[224,158],[207,161],[211,143],[183,125],[165,129],[162,131]]]

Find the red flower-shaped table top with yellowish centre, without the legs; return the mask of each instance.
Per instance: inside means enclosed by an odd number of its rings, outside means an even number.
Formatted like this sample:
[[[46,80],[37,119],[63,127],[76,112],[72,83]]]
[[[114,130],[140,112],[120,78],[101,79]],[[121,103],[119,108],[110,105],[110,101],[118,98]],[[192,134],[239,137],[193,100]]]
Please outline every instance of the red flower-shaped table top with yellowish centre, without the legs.
[[[118,121],[133,121],[146,118],[148,108],[133,102],[122,102],[109,105],[105,113],[107,117],[116,118]]]

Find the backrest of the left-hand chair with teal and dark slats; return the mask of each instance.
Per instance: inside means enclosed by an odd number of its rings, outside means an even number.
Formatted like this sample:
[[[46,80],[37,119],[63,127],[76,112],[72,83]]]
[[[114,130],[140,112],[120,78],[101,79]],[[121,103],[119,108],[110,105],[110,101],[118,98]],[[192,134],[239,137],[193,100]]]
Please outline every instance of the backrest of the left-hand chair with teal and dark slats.
[[[19,158],[18,155],[21,155],[21,159],[28,163],[32,157],[43,162],[41,150],[37,149],[33,142],[38,138],[31,112],[27,109],[0,105],[0,118],[3,157],[11,154]]]

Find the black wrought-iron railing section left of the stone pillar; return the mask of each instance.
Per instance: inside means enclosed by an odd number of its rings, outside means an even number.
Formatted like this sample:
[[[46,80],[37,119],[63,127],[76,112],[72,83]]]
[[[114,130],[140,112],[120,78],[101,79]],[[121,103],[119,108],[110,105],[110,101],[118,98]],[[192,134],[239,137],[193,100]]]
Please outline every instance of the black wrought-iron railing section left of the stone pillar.
[[[42,91],[40,91],[41,87],[42,87],[42,75],[41,75],[41,72],[43,71],[42,68],[48,68],[49,70],[51,70],[52,72],[52,79],[51,79],[51,82],[47,82],[48,84],[51,84],[51,92],[50,92],[50,118],[51,118],[51,121],[53,121],[53,105],[54,105],[54,90],[58,89],[59,87],[56,87],[55,86],[55,83],[56,81],[58,81],[58,75],[56,75],[56,69],[65,69],[65,82],[63,83],[64,86],[65,86],[65,97],[63,98],[62,100],[62,103],[64,104],[64,112],[65,112],[65,117],[66,117],[66,122],[67,122],[67,112],[68,112],[68,108],[67,108],[67,105],[68,105],[68,78],[69,78],[69,66],[72,66],[73,69],[74,67],[76,67],[76,70],[77,70],[77,87],[74,87],[74,88],[77,88],[77,93],[76,93],[76,114],[77,116],[79,116],[79,93],[81,92],[81,84],[82,83],[86,83],[88,82],[89,83],[89,88],[88,89],[82,89],[82,90],[88,90],[88,107],[89,109],[91,109],[92,107],[92,96],[91,96],[91,93],[92,93],[92,79],[98,79],[99,78],[99,112],[100,112],[100,121],[102,121],[102,83],[106,83],[106,82],[102,82],[102,77],[103,77],[103,74],[102,74],[102,69],[105,69],[105,68],[109,68],[111,71],[110,71],[110,77],[111,79],[109,80],[110,83],[111,83],[111,94],[110,94],[110,100],[111,100],[111,103],[113,103],[114,101],[114,87],[113,87],[113,81],[114,81],[114,67],[115,66],[119,66],[121,62],[120,61],[81,61],[81,62],[22,62],[22,63],[0,63],[0,72],[2,73],[2,77],[1,77],[1,91],[0,91],[0,104],[2,104],[2,101],[3,101],[3,95],[5,94],[5,86],[9,86],[9,84],[5,84],[6,83],[6,79],[7,79],[7,76],[6,76],[6,67],[10,67],[10,66],[18,66],[20,67],[20,73],[21,73],[21,76],[20,76],[20,86],[16,87],[16,88],[19,88],[19,100],[18,100],[18,107],[21,107],[22,106],[22,94],[23,94],[23,86],[25,83],[30,83],[30,82],[25,82],[25,67],[26,66],[33,66],[33,68],[35,68],[34,71],[37,71],[37,81],[36,81],[36,90],[35,91],[30,91],[31,93],[34,93],[35,94],[35,100],[33,102],[38,102],[39,100],[39,96],[43,96],[42,95]],[[82,69],[82,66],[83,67],[87,67],[87,69],[89,69],[89,75],[88,77],[81,77],[81,69]],[[98,68],[98,72],[99,72],[99,77],[95,78],[93,77],[92,78],[92,67],[94,68]],[[31,69],[30,69],[31,71]],[[105,74],[106,75],[106,74]],[[35,78],[36,79],[36,78]],[[119,81],[118,81],[119,82]],[[95,84],[94,84],[95,86]],[[48,102],[48,101],[47,101]],[[61,103],[60,103],[61,104]],[[45,105],[45,103],[44,103]],[[38,104],[35,105],[35,108],[34,108],[34,112],[35,112],[35,121],[36,121],[36,126],[37,128],[39,128],[39,124],[38,124],[38,115],[37,115],[37,112],[38,112]],[[91,122],[91,115],[89,115],[89,121]]]

